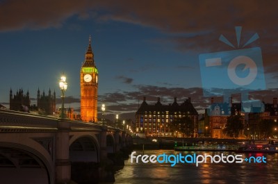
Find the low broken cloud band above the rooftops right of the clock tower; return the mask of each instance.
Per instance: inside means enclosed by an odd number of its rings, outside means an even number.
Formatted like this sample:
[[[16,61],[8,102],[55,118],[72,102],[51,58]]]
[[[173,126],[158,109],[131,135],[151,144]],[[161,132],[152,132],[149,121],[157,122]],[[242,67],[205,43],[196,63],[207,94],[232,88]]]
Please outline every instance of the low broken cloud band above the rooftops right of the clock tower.
[[[182,103],[190,97],[193,106],[199,113],[204,113],[204,109],[211,105],[211,97],[204,97],[202,87],[158,87],[154,85],[134,85],[135,90],[131,92],[111,92],[106,93],[100,97],[101,101],[105,101],[107,113],[113,117],[120,113],[133,113],[138,110],[141,105],[143,97],[149,105],[154,105],[157,98],[160,97],[161,103],[167,105],[174,102],[174,97],[177,97],[177,102]],[[222,89],[213,89],[215,92],[221,92]],[[233,101],[241,101],[241,92],[246,92],[244,89],[238,88],[231,90],[231,97]],[[272,103],[274,97],[278,97],[277,89],[249,92],[250,99],[264,101],[265,103]],[[212,96],[213,97],[213,96]],[[222,96],[213,97],[214,102],[222,103],[228,99],[223,99]]]

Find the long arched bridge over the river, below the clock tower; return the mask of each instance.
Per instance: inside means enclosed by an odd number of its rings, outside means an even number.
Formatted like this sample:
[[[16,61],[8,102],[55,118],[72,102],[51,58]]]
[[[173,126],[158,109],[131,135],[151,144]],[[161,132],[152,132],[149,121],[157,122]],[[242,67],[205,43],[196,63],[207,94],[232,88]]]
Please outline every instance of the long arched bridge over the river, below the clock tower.
[[[80,163],[98,164],[131,141],[119,128],[0,110],[0,181],[67,183]]]

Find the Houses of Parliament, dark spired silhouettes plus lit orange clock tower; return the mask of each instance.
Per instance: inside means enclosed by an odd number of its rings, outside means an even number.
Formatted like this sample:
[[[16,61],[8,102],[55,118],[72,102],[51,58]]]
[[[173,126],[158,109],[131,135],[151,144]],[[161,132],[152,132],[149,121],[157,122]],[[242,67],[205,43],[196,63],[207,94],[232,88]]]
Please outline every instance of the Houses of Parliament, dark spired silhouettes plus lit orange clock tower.
[[[83,122],[97,122],[97,89],[98,89],[98,69],[95,65],[94,53],[91,47],[91,37],[89,37],[88,49],[85,53],[85,60],[82,63],[80,71],[80,89],[81,89],[81,112],[80,115],[74,113],[73,108],[65,109],[65,114],[70,119],[79,119]],[[38,111],[41,115],[58,114],[56,108],[56,92],[48,94],[38,90],[37,104],[31,105],[29,92],[24,94],[22,89],[13,94],[10,89],[10,110],[19,110],[22,112]]]

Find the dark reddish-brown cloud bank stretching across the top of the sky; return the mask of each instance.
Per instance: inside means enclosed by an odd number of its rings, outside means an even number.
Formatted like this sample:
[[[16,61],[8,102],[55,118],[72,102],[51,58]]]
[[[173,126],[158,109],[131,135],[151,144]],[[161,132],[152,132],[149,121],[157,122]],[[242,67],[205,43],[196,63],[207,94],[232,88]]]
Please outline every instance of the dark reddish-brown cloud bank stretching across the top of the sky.
[[[243,26],[240,47],[258,33],[260,39],[249,47],[261,47],[265,72],[277,71],[278,1],[10,0],[0,5],[0,31],[60,28],[72,17],[112,20],[155,28],[165,33],[156,41],[174,43],[174,48],[181,52],[231,50],[218,38],[223,34],[236,45],[234,26]],[[72,24],[68,28],[80,26]]]

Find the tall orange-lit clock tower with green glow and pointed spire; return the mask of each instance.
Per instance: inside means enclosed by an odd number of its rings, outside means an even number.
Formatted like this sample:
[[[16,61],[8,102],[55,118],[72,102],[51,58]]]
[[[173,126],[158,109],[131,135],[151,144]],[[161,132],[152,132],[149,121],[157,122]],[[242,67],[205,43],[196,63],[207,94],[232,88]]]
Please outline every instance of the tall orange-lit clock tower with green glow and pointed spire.
[[[91,37],[80,72],[81,119],[83,122],[97,122],[98,71],[92,53]]]

